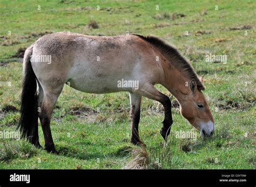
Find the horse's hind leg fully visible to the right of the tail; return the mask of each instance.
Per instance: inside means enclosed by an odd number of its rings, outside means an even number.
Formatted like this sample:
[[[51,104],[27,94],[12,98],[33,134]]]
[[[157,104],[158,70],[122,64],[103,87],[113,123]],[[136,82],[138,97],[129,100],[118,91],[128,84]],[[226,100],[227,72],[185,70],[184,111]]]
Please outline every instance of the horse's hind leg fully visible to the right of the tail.
[[[43,102],[40,109],[41,111],[39,112],[39,119],[41,121],[44,140],[45,140],[45,149],[48,152],[52,152],[52,153],[56,153],[56,149],[52,139],[50,122],[51,122],[51,116],[52,116],[55,103],[62,89],[63,89],[63,85],[51,91],[44,90]]]

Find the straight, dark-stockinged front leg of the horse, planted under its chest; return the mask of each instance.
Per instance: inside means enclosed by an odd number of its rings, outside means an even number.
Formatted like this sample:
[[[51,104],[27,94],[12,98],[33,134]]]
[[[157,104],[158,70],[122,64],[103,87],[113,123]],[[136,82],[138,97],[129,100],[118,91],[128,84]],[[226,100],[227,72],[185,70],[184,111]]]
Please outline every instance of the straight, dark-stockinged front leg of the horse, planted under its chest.
[[[130,118],[132,121],[132,135],[131,143],[134,145],[139,145],[139,119],[140,119],[140,103],[142,102],[142,96],[136,95],[130,92],[130,104],[131,104],[131,113]]]

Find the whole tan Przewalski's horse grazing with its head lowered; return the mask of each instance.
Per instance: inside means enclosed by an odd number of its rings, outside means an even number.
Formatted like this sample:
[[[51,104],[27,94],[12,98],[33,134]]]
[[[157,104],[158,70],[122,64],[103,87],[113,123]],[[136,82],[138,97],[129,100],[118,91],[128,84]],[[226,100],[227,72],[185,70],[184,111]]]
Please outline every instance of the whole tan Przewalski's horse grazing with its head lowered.
[[[136,82],[137,87],[123,83]],[[181,114],[203,135],[212,135],[214,120],[204,90],[190,64],[177,50],[156,37],[120,35],[95,37],[59,32],[39,38],[25,51],[21,95],[21,119],[18,127],[23,137],[36,146],[38,117],[45,148],[56,152],[50,121],[53,107],[65,83],[88,93],[130,93],[131,142],[140,143],[138,124],[142,96],[164,106],[161,135],[170,134],[171,101],[154,88],[163,85],[180,103]],[[136,84],[133,84],[136,85]]]

